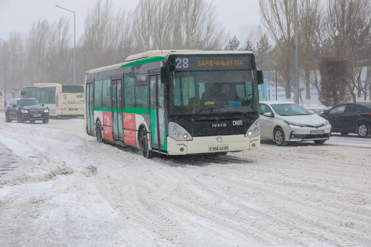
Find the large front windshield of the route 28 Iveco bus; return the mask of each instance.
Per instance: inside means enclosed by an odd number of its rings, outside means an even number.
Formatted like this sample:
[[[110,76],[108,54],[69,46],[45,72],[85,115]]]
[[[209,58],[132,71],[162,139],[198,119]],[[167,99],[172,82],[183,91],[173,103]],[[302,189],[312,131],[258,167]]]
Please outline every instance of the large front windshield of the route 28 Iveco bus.
[[[253,70],[175,72],[170,83],[170,114],[194,114],[194,110],[223,107],[216,112],[257,111],[257,85]],[[202,114],[211,113],[203,111]]]

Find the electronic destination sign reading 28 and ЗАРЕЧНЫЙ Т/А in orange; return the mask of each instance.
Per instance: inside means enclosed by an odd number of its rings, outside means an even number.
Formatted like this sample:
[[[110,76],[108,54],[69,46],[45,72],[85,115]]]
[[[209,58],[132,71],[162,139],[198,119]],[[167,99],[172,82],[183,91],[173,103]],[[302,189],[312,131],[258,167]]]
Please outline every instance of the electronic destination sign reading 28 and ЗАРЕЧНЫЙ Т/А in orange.
[[[249,54],[250,55],[250,54]],[[251,56],[213,56],[213,57],[169,57],[175,70],[241,70],[251,69]]]

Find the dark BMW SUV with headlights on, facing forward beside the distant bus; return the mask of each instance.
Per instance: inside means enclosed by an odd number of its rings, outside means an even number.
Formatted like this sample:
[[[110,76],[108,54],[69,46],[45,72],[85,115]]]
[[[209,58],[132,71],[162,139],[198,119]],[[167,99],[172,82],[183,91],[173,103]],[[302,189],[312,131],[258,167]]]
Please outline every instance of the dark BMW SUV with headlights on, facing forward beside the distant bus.
[[[30,121],[35,123],[42,120],[43,123],[49,122],[49,109],[37,102],[34,98],[12,99],[5,107],[5,121],[12,123],[17,120],[18,123]]]

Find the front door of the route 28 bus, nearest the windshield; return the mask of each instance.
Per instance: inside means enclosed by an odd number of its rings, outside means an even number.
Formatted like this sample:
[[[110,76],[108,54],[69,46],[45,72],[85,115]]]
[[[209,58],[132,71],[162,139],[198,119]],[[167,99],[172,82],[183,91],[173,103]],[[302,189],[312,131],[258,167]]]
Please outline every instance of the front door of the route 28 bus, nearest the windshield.
[[[166,151],[164,84],[161,83],[160,75],[150,77],[149,97],[152,147]]]

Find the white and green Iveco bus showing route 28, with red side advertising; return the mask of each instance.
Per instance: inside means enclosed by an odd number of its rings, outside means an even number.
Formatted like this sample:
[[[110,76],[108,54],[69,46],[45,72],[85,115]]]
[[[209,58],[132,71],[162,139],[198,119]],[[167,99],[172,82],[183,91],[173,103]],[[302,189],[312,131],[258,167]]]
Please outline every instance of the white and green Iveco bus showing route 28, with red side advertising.
[[[155,50],[89,70],[86,133],[157,154],[227,154],[260,147],[250,51]]]

